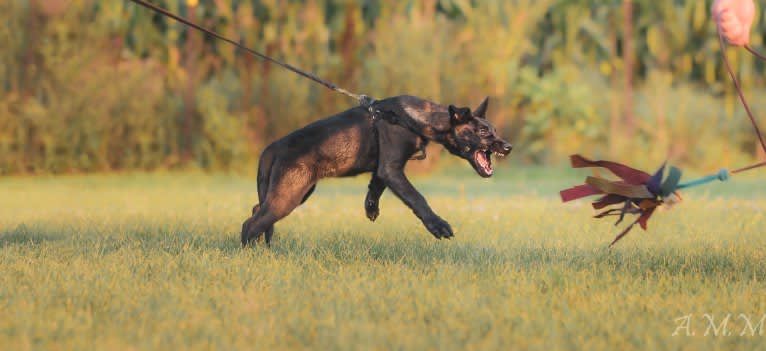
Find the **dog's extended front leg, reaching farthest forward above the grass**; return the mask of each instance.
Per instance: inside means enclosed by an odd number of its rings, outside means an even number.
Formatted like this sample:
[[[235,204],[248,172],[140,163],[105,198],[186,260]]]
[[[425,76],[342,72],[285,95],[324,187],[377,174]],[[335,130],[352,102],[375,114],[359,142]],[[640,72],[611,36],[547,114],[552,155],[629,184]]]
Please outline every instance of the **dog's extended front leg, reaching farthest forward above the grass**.
[[[431,207],[428,206],[426,199],[410,183],[404,175],[404,166],[383,166],[378,169],[377,176],[380,177],[386,186],[396,194],[412,211],[420,218],[429,232],[437,239],[451,238],[452,227],[447,221],[437,216]]]

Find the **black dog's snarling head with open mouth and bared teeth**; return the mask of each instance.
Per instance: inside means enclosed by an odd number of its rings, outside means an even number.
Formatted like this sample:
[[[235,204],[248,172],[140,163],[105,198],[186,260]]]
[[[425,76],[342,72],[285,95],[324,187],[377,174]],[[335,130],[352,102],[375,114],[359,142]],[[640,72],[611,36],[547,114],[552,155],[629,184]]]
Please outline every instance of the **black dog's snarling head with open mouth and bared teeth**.
[[[468,160],[484,178],[492,176],[492,154],[506,156],[511,153],[510,143],[497,135],[497,130],[485,118],[488,98],[473,112],[468,107],[448,108],[451,129],[444,146],[453,155]]]

